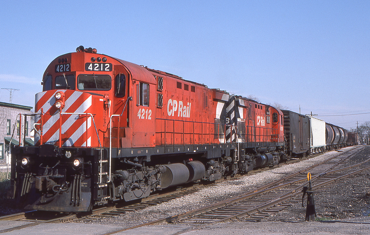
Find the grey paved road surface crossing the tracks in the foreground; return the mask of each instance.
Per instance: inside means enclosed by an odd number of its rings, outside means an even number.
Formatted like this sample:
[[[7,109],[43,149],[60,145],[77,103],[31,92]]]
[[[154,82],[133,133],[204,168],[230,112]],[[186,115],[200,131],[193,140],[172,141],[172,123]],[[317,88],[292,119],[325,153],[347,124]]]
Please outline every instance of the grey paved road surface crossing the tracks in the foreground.
[[[0,221],[0,228],[6,229],[14,226],[27,224],[23,221]],[[27,234],[27,235],[99,235],[121,229],[117,225],[98,225],[83,223],[68,224],[41,224],[30,228],[20,229],[5,234]],[[188,231],[192,225],[162,224],[146,226],[137,229],[117,233],[118,235],[152,234],[170,235],[185,232],[184,235],[225,235],[225,234],[263,234],[263,235],[286,235],[286,234],[370,234],[370,217],[359,217],[342,222],[240,222],[232,221],[205,226],[199,230]],[[188,232],[186,232],[188,231]]]

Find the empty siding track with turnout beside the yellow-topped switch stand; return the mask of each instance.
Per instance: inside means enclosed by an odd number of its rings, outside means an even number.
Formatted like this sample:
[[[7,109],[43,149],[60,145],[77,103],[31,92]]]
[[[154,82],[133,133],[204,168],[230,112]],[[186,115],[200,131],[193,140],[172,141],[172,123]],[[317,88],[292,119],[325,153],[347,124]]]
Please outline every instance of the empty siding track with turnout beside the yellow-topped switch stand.
[[[161,223],[179,223],[193,224],[194,229],[182,231],[182,234],[191,230],[201,229],[204,226],[227,222],[233,219],[247,217],[250,221],[260,221],[271,213],[277,213],[288,207],[292,202],[300,201],[297,196],[302,194],[302,188],[308,184],[306,172],[312,173],[313,189],[324,189],[333,182],[340,181],[346,177],[359,174],[361,171],[369,170],[370,167],[362,168],[346,174],[340,172],[348,171],[350,168],[359,167],[361,164],[370,161],[370,159],[350,167],[342,167],[348,158],[359,152],[363,147],[353,148],[352,150],[342,152],[339,155],[330,157],[322,162],[314,164],[306,169],[290,174],[280,180],[273,181],[270,184],[257,188],[245,194],[226,199],[221,202],[209,205],[207,207],[188,211],[179,215],[158,219],[156,221],[138,224],[128,228],[122,228],[103,235],[115,234],[129,229],[142,226],[161,224]],[[336,168],[336,169],[334,169]]]

